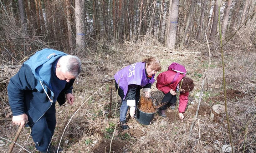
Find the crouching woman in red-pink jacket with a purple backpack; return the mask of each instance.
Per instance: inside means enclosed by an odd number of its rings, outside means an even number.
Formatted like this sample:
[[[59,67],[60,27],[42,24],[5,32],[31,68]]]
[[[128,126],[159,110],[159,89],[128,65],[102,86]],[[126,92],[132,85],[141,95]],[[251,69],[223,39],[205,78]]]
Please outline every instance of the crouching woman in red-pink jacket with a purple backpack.
[[[165,109],[166,109],[166,105],[169,103],[171,105],[170,108],[172,110],[175,109],[176,91],[180,90],[181,92],[180,92],[180,104],[179,104],[179,117],[183,119],[184,118],[183,113],[185,112],[187,107],[188,95],[189,95],[189,92],[192,91],[194,88],[194,82],[191,78],[184,77],[183,74],[179,74],[179,76],[177,77],[177,80],[172,83],[176,73],[177,72],[173,71],[169,67],[167,71],[160,73],[156,79],[157,81],[156,88],[158,90],[161,90],[164,94],[164,97],[161,101],[161,104],[163,104],[163,106],[159,108],[158,113],[162,117],[166,117]],[[183,82],[182,82],[182,86],[180,87],[182,79],[183,79]]]

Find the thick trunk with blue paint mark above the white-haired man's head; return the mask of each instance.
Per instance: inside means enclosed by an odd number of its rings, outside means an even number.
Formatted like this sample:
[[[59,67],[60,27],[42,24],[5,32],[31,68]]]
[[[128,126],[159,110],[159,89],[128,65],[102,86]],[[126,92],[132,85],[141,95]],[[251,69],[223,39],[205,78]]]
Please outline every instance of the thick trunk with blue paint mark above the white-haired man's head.
[[[75,0],[75,30],[76,30],[76,46],[83,48],[85,46],[85,1]]]

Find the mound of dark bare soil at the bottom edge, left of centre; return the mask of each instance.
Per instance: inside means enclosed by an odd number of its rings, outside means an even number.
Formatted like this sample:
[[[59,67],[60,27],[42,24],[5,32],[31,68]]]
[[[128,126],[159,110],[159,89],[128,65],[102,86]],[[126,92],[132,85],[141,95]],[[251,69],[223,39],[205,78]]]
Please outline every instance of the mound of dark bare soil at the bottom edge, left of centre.
[[[100,142],[95,146],[95,149],[93,150],[93,152],[109,152],[110,141],[111,140]],[[123,142],[113,140],[111,144],[111,152],[113,153],[124,152],[124,147],[125,147],[125,144]]]

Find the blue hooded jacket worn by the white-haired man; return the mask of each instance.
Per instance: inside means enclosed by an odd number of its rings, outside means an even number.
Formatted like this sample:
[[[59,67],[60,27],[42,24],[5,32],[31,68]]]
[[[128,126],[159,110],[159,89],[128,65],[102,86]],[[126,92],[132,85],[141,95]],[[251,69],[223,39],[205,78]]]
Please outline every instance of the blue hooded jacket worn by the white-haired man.
[[[29,121],[26,126],[32,126],[55,102],[50,84],[52,64],[65,55],[53,49],[38,51],[10,79],[7,89],[13,116],[26,113]],[[73,83],[74,80],[67,82],[60,92],[57,98],[59,105],[65,103],[65,94],[72,93]]]

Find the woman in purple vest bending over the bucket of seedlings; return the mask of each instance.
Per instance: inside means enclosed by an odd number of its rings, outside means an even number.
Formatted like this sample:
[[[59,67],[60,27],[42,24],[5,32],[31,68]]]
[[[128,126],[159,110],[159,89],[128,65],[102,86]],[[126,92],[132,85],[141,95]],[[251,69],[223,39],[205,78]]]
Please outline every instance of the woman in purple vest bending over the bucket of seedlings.
[[[150,97],[151,84],[156,80],[155,74],[161,71],[161,65],[156,57],[144,58],[142,62],[129,65],[115,74],[115,88],[122,99],[120,108],[120,123],[123,130],[128,130],[126,114],[130,106],[130,115],[134,116],[135,107],[140,99],[140,90]]]

